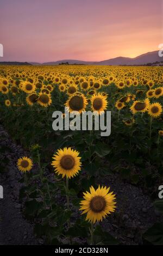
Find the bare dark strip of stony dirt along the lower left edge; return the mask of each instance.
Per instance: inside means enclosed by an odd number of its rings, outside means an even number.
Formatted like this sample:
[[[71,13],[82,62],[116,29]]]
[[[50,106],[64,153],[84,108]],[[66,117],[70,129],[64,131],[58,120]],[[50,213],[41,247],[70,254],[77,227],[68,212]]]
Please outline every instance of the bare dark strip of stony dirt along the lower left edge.
[[[23,218],[18,200],[22,185],[18,182],[21,173],[16,168],[16,161],[24,152],[11,141],[1,125],[0,150],[0,185],[4,193],[0,199],[0,245],[36,245],[33,225]],[[2,170],[3,163],[7,169]]]

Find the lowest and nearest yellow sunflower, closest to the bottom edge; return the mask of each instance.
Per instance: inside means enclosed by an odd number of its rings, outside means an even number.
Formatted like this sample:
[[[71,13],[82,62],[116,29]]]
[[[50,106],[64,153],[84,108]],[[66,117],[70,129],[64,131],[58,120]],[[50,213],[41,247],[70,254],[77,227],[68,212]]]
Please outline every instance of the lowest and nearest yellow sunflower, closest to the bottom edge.
[[[82,214],[86,215],[86,220],[95,223],[96,221],[102,221],[103,218],[115,211],[115,194],[110,192],[110,187],[100,187],[97,190],[90,187],[90,193],[86,191],[84,193],[84,200],[80,202],[80,210]]]

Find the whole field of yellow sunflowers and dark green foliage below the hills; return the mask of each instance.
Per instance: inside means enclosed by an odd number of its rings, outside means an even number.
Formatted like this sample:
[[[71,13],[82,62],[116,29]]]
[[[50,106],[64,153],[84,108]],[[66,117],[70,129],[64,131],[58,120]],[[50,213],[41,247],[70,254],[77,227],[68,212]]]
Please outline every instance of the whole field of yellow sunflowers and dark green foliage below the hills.
[[[111,177],[117,187],[123,182],[149,196],[159,223],[135,230],[141,244],[163,244],[162,106],[162,67],[0,66],[1,124],[26,151],[15,165],[22,214],[37,237],[48,245],[125,243],[125,198],[118,198]],[[65,119],[65,107],[79,114],[111,111],[110,136],[54,131],[52,114],[61,111]],[[0,163],[0,175],[7,175],[7,165]]]

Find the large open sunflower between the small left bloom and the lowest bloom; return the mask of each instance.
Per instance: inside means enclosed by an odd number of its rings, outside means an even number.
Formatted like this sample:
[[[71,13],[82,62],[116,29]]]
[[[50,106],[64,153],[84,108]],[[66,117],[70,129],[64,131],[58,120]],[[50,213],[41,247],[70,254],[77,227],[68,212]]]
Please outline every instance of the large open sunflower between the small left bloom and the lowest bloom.
[[[62,178],[65,176],[71,178],[78,174],[81,170],[81,157],[78,156],[79,152],[71,148],[59,149],[56,154],[54,154],[54,161],[52,166],[55,168],[55,173],[61,174]]]

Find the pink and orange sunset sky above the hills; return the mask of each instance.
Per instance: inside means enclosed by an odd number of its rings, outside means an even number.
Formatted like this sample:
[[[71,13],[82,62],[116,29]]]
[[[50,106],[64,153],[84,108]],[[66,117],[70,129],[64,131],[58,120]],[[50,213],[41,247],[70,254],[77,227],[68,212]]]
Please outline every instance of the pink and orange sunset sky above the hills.
[[[158,50],[162,2],[0,0],[0,62],[99,61]]]

